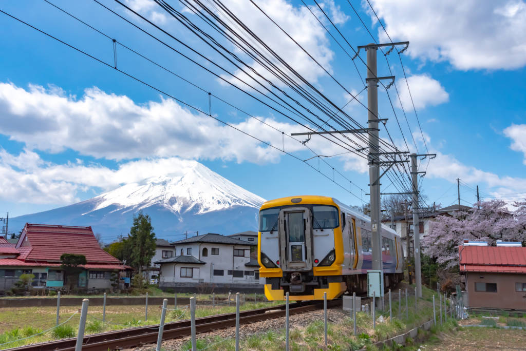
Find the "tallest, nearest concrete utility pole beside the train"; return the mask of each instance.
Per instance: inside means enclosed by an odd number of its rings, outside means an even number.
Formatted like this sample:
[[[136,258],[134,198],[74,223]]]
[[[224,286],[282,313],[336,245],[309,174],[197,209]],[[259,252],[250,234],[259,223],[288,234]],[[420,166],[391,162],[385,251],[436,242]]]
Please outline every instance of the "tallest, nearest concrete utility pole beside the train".
[[[371,194],[372,269],[382,269],[380,212],[380,155],[378,138],[378,80],[376,54],[378,48],[367,47],[367,120],[369,130],[369,193]]]

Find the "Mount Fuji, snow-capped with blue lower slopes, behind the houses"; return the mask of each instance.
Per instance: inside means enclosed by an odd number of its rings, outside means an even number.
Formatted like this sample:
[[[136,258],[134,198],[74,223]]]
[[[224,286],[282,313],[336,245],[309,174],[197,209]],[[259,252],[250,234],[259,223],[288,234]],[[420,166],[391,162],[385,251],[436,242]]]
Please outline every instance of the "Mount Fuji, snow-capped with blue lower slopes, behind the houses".
[[[157,238],[181,239],[188,231],[234,234],[256,230],[265,199],[191,161],[176,177],[125,184],[93,199],[14,219],[23,223],[92,226],[105,243],[129,233],[139,210],[151,217]]]

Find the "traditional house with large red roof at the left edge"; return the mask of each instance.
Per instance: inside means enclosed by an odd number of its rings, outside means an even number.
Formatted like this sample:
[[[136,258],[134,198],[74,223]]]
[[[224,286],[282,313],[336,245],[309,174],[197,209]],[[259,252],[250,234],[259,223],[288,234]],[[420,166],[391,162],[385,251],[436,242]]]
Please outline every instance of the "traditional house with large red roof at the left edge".
[[[86,256],[76,288],[102,290],[111,287],[113,272],[129,269],[102,250],[90,226],[26,223],[16,244],[0,241],[0,291],[9,290],[24,273],[33,274],[34,288],[61,288],[64,272],[60,256]]]

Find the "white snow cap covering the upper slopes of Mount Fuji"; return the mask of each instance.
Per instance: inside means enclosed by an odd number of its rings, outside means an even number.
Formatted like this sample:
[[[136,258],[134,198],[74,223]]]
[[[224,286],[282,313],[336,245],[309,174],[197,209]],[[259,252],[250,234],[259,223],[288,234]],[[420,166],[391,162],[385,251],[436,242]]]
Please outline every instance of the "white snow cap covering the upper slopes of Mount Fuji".
[[[137,211],[157,204],[173,213],[194,210],[196,214],[227,209],[234,205],[259,208],[265,202],[265,199],[219,176],[198,162],[183,176],[160,176],[141,183],[126,184],[93,200],[97,205],[92,211],[110,205],[116,206],[114,211],[124,208]]]

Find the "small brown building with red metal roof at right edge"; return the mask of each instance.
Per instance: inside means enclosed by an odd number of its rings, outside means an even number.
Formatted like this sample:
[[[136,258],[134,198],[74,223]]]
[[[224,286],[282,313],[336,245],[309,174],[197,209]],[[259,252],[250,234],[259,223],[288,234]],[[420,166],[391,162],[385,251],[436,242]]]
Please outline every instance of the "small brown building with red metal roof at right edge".
[[[464,243],[459,255],[467,306],[526,311],[526,247],[499,241],[497,246]]]

